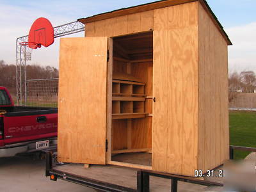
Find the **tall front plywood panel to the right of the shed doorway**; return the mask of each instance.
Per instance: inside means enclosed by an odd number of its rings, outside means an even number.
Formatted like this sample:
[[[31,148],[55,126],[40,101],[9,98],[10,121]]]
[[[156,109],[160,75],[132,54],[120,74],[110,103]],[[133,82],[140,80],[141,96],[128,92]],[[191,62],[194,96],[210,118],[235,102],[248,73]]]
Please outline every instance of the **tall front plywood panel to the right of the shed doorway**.
[[[194,175],[198,154],[198,3],[154,10],[152,168]]]

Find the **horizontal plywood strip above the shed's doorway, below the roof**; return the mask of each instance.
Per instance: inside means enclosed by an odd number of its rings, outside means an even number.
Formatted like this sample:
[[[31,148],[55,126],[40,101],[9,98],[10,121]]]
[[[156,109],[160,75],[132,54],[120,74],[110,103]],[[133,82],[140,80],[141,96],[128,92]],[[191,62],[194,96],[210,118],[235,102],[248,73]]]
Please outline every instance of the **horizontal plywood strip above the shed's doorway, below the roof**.
[[[154,26],[154,11],[134,13],[86,24],[85,36],[119,36],[149,31]]]

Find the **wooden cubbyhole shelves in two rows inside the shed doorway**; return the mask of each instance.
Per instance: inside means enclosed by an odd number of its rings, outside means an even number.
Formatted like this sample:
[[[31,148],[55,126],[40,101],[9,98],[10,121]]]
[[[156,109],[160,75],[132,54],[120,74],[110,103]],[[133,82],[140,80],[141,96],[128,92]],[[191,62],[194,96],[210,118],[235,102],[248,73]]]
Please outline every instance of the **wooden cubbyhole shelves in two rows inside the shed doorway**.
[[[113,79],[112,118],[143,118],[145,113],[145,83]]]

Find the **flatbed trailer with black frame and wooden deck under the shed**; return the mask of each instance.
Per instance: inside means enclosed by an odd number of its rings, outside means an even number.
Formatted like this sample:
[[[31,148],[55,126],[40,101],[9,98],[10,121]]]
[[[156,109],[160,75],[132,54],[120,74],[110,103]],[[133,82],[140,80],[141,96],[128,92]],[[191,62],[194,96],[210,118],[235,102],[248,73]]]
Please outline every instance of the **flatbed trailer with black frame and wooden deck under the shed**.
[[[56,164],[56,152],[46,153],[45,176],[51,180],[66,180],[99,191],[178,191],[181,188],[203,191],[223,186],[221,181],[204,180],[169,173],[154,172],[116,165],[92,165],[84,168],[83,164]],[[196,184],[196,185],[193,185]],[[179,188],[180,189],[180,188]]]

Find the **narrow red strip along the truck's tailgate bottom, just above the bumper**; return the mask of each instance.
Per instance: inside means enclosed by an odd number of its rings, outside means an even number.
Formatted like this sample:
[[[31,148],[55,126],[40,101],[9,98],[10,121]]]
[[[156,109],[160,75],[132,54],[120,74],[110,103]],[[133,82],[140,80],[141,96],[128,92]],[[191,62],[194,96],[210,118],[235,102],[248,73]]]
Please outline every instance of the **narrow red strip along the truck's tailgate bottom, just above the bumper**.
[[[47,134],[38,134],[35,136],[26,136],[22,138],[5,139],[5,140],[0,140],[0,147],[10,143],[19,143],[20,141],[26,142],[31,140],[39,140],[42,138],[45,138],[45,140],[47,140],[47,138],[54,138],[56,136],[57,136],[57,132],[51,132]]]

